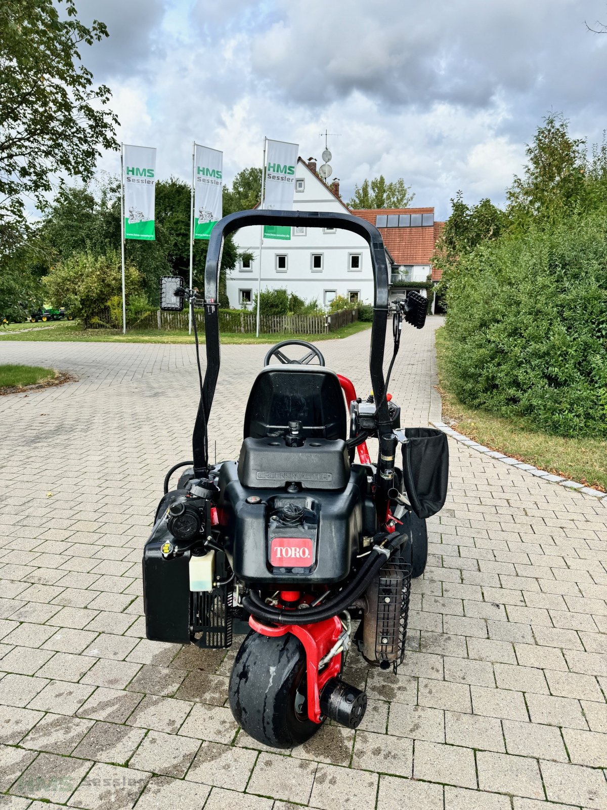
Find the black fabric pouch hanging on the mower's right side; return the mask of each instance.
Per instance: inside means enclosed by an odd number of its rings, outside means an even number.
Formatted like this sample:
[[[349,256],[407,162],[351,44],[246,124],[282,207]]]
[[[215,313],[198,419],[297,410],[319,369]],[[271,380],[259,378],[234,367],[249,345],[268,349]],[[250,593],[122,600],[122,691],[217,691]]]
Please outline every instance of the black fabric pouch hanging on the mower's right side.
[[[449,448],[436,428],[405,428],[402,475],[411,508],[418,518],[431,518],[447,497]]]

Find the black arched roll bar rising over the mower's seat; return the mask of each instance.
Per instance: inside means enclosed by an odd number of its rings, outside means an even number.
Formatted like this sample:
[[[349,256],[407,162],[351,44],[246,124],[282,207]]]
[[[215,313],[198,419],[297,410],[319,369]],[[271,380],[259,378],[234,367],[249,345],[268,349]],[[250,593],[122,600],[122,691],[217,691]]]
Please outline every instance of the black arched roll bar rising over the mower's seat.
[[[209,249],[206,254],[206,373],[192,436],[193,466],[196,475],[204,475],[209,467],[206,427],[209,422],[210,409],[213,405],[217,377],[219,376],[218,285],[223,241],[239,228],[248,228],[250,225],[304,225],[307,228],[342,228],[357,233],[359,237],[363,237],[367,241],[371,249],[371,267],[373,268],[375,281],[369,371],[376,398],[380,437],[392,433],[388,416],[383,369],[386,324],[388,322],[388,264],[386,262],[384,241],[380,232],[375,225],[371,225],[367,220],[349,214],[332,214],[322,211],[239,211],[236,214],[224,216],[223,220],[219,220],[214,226],[210,233]]]

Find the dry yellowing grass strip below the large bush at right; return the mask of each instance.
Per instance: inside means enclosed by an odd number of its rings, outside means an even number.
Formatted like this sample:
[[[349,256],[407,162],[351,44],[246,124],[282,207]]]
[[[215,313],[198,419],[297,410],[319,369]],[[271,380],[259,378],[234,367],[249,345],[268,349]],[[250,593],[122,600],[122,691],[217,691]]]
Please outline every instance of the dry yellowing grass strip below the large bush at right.
[[[551,436],[539,432],[524,417],[493,416],[462,405],[450,390],[444,361],[446,351],[444,329],[439,329],[436,332],[436,356],[444,422],[491,450],[607,491],[607,440]]]

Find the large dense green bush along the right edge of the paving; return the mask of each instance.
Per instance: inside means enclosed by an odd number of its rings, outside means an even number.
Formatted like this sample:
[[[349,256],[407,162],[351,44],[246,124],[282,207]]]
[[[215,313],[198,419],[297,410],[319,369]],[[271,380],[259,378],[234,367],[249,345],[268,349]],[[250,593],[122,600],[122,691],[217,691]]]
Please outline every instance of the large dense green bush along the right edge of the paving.
[[[607,217],[478,245],[447,302],[462,403],[561,436],[607,436]]]

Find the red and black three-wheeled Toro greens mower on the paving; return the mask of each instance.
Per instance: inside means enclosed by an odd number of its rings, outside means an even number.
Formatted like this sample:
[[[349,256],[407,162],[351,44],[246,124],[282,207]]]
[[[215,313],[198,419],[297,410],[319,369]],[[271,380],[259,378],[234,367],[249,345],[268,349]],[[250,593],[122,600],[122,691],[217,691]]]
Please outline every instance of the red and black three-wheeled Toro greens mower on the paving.
[[[359,399],[311,343],[278,343],[253,382],[240,457],[213,464],[207,425],[219,375],[223,240],[265,224],[344,228],[368,242],[373,394]],[[182,279],[162,279],[162,309],[183,309],[185,301],[193,308],[194,291]],[[402,323],[421,329],[427,299],[410,292],[397,302],[384,380],[388,266],[380,232],[344,214],[245,211],[213,228],[204,309],[207,362],[202,382],[197,356],[193,462],[168,471],[143,553],[146,635],[226,648],[235,629],[248,630],[229,681],[232,714],[259,742],[291,748],[327,718],[350,728],[363,719],[366,694],[342,678],[351,644],[370,666],[394,671],[405,654],[411,577],[426,565],[425,518],[444,505],[448,447],[434,428],[401,429],[388,380]],[[299,360],[289,359],[292,346],[304,347]],[[379,440],[376,462],[368,438]],[[172,473],[189,465],[168,491]]]

